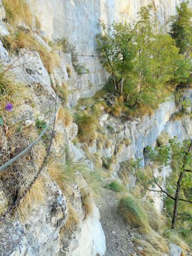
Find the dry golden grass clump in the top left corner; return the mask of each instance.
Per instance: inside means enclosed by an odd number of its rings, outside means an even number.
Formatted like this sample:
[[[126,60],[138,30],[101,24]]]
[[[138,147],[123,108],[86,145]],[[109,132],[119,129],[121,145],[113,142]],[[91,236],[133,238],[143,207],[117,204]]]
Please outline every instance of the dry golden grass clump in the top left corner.
[[[11,25],[24,22],[31,27],[32,14],[26,0],[2,0],[6,18]]]

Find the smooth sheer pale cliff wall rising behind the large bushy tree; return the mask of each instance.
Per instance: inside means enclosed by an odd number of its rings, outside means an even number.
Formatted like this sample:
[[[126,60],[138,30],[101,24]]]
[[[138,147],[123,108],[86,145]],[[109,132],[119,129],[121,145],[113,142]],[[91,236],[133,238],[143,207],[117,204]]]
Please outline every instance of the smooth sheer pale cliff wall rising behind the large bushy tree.
[[[97,24],[103,20],[131,22],[137,18],[141,6],[153,3],[153,15],[160,25],[166,24],[174,14],[179,0],[28,0],[41,23],[41,28],[50,40],[68,38],[76,47],[80,63],[85,63],[90,73],[82,75],[78,84],[78,97],[90,97],[101,89],[107,76],[98,58],[95,35]],[[87,82],[89,81],[89,82]],[[90,86],[93,84],[94,86]]]

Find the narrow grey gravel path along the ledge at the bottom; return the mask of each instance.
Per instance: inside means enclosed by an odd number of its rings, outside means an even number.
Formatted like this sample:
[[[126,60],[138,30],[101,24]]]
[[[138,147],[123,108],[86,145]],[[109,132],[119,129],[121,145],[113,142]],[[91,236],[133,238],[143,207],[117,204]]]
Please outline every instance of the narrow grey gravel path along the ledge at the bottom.
[[[106,237],[105,256],[130,256],[134,254],[130,227],[117,213],[118,200],[115,193],[107,190],[105,202],[99,205],[101,225]]]

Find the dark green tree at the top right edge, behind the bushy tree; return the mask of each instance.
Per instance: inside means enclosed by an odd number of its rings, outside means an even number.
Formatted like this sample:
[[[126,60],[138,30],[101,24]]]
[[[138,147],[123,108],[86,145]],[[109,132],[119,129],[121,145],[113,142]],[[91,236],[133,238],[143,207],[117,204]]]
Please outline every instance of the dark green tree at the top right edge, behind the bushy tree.
[[[180,53],[184,54],[191,49],[191,25],[192,11],[189,7],[189,1],[182,1],[176,7],[176,15],[171,16],[170,35],[176,40],[176,46],[180,48]]]

